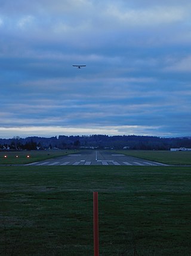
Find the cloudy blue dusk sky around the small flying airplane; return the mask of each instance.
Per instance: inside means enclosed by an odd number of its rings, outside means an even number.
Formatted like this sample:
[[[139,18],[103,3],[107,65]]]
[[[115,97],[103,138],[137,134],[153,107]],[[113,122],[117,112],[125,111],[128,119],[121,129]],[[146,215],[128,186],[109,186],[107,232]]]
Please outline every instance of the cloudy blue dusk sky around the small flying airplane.
[[[0,137],[190,136],[190,13],[190,0],[1,0]]]

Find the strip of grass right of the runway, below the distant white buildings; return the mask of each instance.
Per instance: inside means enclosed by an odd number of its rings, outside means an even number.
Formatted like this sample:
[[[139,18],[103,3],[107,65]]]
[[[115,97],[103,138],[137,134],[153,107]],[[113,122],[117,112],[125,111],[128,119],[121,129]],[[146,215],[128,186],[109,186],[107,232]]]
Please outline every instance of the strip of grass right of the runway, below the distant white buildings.
[[[118,150],[117,152],[151,161],[163,162],[164,164],[191,164],[191,151]]]

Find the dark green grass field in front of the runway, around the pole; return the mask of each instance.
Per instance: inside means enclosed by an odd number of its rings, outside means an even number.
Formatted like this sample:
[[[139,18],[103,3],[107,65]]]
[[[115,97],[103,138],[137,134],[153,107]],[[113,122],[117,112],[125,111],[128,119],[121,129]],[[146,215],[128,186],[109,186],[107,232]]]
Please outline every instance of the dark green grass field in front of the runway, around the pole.
[[[191,167],[0,167],[0,255],[190,255]]]

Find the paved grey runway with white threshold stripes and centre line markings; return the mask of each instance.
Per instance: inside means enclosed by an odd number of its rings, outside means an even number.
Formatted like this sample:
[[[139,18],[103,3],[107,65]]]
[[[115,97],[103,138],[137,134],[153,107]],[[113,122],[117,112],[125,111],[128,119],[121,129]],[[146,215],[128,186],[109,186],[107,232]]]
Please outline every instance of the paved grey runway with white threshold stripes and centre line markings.
[[[104,150],[91,150],[26,165],[166,165]]]

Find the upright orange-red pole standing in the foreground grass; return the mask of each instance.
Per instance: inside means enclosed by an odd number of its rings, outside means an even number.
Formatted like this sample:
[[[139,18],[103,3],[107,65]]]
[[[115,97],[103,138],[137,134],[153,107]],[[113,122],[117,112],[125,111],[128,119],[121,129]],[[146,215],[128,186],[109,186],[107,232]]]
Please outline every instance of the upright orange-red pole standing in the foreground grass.
[[[98,234],[98,192],[94,196],[94,256],[99,256],[99,234]]]

